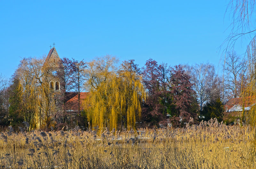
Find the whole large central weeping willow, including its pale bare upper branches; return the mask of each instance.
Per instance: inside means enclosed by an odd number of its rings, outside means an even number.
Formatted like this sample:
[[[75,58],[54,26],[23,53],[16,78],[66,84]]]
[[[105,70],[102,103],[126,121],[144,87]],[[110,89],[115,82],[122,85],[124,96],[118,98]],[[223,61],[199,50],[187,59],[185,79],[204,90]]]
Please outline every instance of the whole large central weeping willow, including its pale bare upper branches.
[[[96,58],[87,63],[86,88],[90,91],[84,102],[88,121],[92,126],[134,129],[140,118],[141,100],[145,91],[141,77],[129,69],[127,62],[121,68],[112,56]]]

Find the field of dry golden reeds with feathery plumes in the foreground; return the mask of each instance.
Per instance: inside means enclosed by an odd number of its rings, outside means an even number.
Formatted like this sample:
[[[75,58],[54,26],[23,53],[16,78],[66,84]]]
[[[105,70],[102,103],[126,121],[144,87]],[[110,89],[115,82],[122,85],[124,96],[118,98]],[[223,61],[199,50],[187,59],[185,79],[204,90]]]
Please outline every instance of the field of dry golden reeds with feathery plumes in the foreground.
[[[0,133],[0,168],[256,168],[252,128]]]

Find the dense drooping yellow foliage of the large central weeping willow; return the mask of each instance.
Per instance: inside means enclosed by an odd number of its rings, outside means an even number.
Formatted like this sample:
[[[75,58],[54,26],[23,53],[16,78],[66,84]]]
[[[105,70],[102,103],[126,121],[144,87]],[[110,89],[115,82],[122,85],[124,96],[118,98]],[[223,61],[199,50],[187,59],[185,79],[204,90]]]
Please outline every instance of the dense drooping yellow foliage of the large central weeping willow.
[[[135,129],[135,123],[141,114],[141,100],[146,99],[146,92],[141,84],[141,77],[134,72],[121,72],[119,75],[108,74],[108,78],[91,88],[90,95],[84,102],[88,121],[100,129],[118,128]]]

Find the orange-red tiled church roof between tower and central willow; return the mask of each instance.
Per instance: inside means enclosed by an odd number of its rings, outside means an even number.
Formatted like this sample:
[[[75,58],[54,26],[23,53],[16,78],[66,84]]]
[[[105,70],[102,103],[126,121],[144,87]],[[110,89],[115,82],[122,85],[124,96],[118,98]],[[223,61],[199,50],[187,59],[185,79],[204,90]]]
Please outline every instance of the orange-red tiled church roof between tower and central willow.
[[[87,98],[89,92],[80,92],[80,110],[83,110],[83,100]],[[66,102],[66,110],[78,111],[78,94]]]

